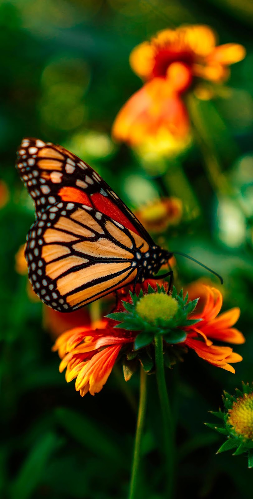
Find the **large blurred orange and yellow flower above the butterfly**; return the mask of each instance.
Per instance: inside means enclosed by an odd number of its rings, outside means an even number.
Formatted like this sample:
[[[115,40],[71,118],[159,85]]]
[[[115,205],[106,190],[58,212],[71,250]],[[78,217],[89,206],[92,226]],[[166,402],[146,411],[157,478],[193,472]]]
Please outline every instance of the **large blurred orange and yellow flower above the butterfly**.
[[[189,119],[182,94],[202,80],[222,83],[229,65],[245,57],[237,43],[216,46],[214,31],[205,25],[159,31],[130,54],[132,70],[144,81],[130,97],[113,125],[116,140],[131,146],[152,137],[186,137]]]

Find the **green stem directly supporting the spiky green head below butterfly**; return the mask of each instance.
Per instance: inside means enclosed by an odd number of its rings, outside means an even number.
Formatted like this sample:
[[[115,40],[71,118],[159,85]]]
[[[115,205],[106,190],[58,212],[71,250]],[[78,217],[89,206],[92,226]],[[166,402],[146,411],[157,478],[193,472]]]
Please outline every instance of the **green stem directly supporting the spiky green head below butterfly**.
[[[163,439],[164,439],[164,452],[166,458],[166,480],[167,490],[166,499],[173,497],[174,490],[174,474],[175,474],[175,461],[174,461],[174,429],[173,418],[171,414],[171,407],[169,403],[165,373],[163,362],[163,339],[161,335],[154,338],[155,347],[155,370],[156,380],[158,387],[158,394],[161,406],[162,425],[163,425]]]

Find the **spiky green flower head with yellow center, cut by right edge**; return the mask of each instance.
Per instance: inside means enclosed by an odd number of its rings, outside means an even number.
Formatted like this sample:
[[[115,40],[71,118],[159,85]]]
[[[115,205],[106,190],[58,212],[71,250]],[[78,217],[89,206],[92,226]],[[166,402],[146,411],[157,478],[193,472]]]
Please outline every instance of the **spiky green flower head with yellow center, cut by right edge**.
[[[236,389],[235,396],[224,392],[222,398],[224,411],[210,411],[221,419],[222,423],[205,423],[209,428],[227,436],[217,454],[231,449],[235,449],[234,456],[247,453],[248,466],[253,468],[253,385],[243,382],[242,390]]]

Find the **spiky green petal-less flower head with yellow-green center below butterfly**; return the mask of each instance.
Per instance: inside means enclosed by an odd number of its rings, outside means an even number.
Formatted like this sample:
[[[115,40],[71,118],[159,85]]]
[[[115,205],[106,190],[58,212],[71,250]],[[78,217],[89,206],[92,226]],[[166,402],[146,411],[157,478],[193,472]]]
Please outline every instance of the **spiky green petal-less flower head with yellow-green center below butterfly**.
[[[148,293],[130,293],[131,302],[123,301],[124,312],[115,312],[107,317],[120,322],[115,327],[140,331],[134,342],[134,349],[152,343],[154,336],[161,334],[168,344],[182,343],[186,339],[184,328],[201,319],[188,319],[197,305],[198,299],[188,301],[188,293],[177,294],[173,287],[172,295],[167,295],[164,287],[157,284],[157,292],[149,285]]]

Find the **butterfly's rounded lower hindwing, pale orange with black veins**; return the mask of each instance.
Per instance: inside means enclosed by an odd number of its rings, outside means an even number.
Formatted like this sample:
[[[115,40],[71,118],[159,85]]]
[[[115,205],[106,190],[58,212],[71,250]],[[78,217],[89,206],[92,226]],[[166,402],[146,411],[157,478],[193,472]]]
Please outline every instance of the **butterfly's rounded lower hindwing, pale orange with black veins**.
[[[134,280],[135,253],[148,244],[123,225],[82,205],[60,202],[28,234],[29,279],[40,299],[71,311]]]

